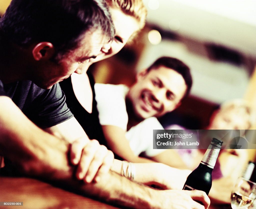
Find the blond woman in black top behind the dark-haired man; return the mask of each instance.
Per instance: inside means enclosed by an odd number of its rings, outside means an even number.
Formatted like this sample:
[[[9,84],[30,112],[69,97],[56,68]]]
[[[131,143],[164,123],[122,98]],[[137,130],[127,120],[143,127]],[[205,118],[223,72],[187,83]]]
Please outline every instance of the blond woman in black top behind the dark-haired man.
[[[115,26],[114,40],[106,43],[101,52],[84,63],[85,65],[91,65],[118,53],[145,25],[147,10],[141,0],[106,0],[106,3]],[[60,86],[67,97],[68,107],[89,138],[97,139],[103,144],[92,74],[73,73],[70,78],[61,82]]]

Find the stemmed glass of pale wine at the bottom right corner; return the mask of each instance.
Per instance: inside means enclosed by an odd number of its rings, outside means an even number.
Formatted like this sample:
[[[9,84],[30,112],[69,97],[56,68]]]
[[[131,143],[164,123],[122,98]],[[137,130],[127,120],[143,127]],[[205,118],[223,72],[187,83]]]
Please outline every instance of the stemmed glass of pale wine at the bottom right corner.
[[[238,178],[231,193],[232,209],[246,209],[256,199],[256,183]]]

